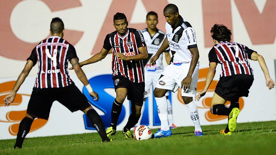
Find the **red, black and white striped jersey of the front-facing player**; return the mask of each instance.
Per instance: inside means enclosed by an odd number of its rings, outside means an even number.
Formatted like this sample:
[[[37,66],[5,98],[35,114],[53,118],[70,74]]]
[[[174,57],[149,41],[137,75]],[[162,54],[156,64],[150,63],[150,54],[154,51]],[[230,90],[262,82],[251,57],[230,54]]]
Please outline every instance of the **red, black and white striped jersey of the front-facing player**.
[[[139,47],[145,47],[145,40],[141,31],[128,28],[125,36],[121,37],[117,31],[109,33],[104,39],[103,48],[112,50],[112,72],[113,76],[122,75],[132,82],[141,83],[144,81],[143,61],[124,61],[115,57],[115,53],[123,53],[125,56],[134,56],[139,54]]]

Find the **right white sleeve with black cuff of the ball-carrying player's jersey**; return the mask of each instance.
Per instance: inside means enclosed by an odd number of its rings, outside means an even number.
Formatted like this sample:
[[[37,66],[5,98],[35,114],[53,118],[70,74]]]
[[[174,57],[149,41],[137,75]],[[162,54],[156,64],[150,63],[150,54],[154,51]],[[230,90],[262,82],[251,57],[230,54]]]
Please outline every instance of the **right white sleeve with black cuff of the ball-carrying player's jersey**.
[[[192,27],[184,29],[184,37],[187,41],[188,49],[197,47],[197,39],[195,37],[195,30]]]

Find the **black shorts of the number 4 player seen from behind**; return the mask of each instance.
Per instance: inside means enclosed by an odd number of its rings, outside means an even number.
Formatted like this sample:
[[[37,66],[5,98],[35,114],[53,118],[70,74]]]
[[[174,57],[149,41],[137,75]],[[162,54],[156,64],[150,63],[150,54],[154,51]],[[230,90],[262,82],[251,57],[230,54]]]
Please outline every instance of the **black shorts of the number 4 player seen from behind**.
[[[85,110],[90,106],[75,84],[62,88],[33,88],[27,113],[34,118],[48,120],[54,101],[58,101],[71,112]]]

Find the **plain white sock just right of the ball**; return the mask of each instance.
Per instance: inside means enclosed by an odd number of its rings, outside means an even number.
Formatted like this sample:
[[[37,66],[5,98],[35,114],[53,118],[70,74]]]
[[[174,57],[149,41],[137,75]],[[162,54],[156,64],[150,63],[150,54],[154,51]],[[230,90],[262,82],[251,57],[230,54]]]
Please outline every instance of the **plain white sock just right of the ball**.
[[[161,121],[161,129],[167,131],[170,127],[168,123],[168,102],[166,96],[155,97],[155,100],[158,108],[158,116]]]

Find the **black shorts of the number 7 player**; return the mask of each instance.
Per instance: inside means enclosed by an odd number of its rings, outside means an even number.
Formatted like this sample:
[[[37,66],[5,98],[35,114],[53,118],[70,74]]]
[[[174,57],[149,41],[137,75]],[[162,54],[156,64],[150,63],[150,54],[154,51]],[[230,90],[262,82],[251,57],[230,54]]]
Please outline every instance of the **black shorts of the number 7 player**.
[[[246,74],[221,77],[215,93],[227,101],[238,102],[240,97],[248,97],[253,80],[253,75]]]

